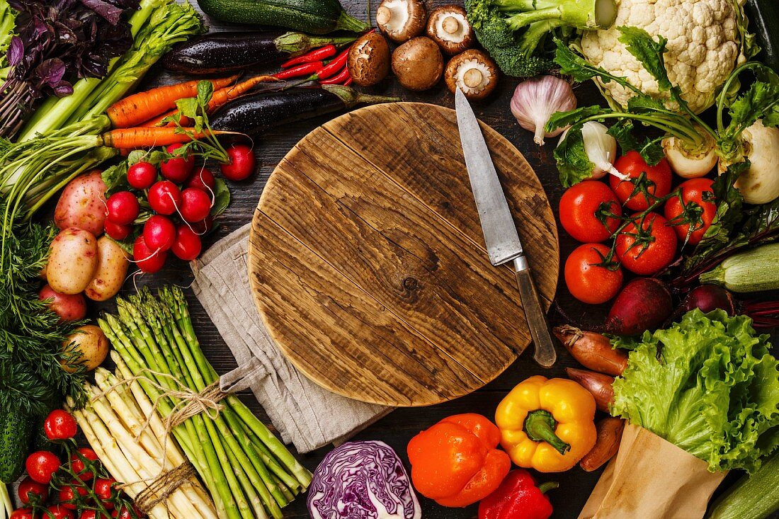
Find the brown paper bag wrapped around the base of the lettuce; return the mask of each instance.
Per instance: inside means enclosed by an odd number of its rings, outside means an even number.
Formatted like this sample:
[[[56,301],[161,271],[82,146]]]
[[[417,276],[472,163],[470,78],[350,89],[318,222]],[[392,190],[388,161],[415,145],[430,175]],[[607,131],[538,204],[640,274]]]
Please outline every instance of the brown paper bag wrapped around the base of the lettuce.
[[[638,425],[626,425],[579,519],[700,519],[726,471]]]

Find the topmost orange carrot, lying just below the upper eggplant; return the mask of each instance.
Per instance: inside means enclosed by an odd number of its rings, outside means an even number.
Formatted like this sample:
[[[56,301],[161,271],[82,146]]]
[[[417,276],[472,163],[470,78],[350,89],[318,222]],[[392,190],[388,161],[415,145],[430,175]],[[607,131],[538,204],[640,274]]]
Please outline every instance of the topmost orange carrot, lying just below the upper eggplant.
[[[227,87],[236,78],[238,76],[211,79],[210,81],[214,90],[218,90]],[[175,85],[153,88],[146,90],[146,92],[138,92],[112,104],[106,113],[114,128],[129,128],[175,108],[176,101],[179,99],[195,97],[198,83],[199,80],[185,81]]]

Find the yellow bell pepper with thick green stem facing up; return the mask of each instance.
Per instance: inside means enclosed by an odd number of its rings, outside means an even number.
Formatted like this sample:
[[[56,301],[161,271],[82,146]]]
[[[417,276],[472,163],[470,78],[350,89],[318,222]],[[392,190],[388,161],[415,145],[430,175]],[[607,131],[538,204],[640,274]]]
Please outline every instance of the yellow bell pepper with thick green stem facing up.
[[[595,399],[568,379],[531,376],[495,411],[500,444],[511,461],[539,472],[572,468],[595,445]]]

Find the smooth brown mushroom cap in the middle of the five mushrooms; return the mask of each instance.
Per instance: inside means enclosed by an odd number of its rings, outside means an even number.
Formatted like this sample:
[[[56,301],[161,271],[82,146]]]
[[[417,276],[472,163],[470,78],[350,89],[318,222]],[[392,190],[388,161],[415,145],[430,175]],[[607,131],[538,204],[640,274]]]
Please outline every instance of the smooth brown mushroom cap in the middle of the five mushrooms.
[[[441,79],[441,49],[428,37],[412,38],[393,52],[392,70],[408,90],[428,90]]]

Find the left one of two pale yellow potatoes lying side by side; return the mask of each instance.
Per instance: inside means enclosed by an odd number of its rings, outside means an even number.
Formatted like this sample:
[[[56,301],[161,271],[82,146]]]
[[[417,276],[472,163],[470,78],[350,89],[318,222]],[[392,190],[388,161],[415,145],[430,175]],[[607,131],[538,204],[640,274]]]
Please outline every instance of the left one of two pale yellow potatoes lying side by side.
[[[60,294],[78,294],[97,270],[97,239],[89,231],[70,227],[51,242],[46,279]]]

